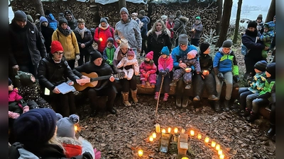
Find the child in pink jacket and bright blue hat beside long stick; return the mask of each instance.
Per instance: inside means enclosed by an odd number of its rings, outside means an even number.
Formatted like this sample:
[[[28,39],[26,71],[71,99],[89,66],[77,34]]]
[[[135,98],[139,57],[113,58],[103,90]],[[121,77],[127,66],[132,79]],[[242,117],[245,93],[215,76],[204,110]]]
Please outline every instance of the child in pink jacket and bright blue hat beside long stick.
[[[158,59],[158,70],[159,75],[157,78],[157,83],[155,85],[155,100],[158,100],[158,95],[160,87],[164,88],[164,97],[163,101],[168,100],[168,93],[170,92],[170,83],[172,81],[171,76],[173,76],[173,59],[170,56],[170,50],[168,47],[163,47],[160,51],[160,57]],[[162,83],[162,76],[164,77],[163,86],[160,86]]]

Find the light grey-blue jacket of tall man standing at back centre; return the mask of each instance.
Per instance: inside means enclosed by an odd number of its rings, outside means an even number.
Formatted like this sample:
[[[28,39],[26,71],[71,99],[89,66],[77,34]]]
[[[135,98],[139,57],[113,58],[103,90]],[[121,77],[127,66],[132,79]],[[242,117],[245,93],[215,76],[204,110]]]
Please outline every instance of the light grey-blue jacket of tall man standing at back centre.
[[[142,48],[140,27],[135,20],[129,18],[124,22],[124,20],[121,19],[116,23],[115,28],[114,40],[127,39],[129,41],[129,47],[133,49]]]

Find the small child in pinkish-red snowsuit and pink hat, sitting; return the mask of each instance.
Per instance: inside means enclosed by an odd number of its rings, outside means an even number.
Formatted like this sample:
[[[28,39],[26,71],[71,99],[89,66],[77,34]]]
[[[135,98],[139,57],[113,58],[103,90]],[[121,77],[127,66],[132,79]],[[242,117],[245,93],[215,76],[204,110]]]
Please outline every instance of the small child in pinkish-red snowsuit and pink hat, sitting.
[[[155,66],[153,61],[153,54],[154,52],[148,52],[146,54],[145,60],[141,63],[139,69],[140,69],[140,80],[141,80],[141,87],[145,87],[146,81],[149,81],[151,83],[151,87],[155,88],[155,80],[156,80],[156,74],[157,66]]]

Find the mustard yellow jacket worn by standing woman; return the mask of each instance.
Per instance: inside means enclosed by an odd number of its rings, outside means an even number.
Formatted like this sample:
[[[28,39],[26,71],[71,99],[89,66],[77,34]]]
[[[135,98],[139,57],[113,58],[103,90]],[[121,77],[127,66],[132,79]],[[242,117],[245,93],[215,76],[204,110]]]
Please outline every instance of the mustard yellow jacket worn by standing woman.
[[[80,54],[78,42],[74,32],[66,37],[65,35],[60,33],[58,29],[56,29],[53,32],[53,37],[51,38],[51,40],[58,40],[61,43],[64,49],[64,56],[67,61],[75,59],[75,56],[77,54]]]

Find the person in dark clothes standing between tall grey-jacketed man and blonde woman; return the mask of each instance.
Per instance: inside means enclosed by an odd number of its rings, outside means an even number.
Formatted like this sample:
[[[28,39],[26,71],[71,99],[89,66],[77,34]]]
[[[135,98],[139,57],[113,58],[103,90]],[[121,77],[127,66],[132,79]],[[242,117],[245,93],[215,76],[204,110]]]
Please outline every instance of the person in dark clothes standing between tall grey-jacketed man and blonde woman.
[[[139,11],[138,18],[143,23],[143,26],[141,27],[142,49],[141,49],[141,53],[140,53],[140,56],[142,57],[143,52],[145,52],[145,54],[147,54],[147,52],[146,52],[146,50],[147,50],[147,47],[146,47],[147,35],[146,34],[148,33],[148,23],[150,23],[150,18],[148,16],[145,16],[144,10]]]

